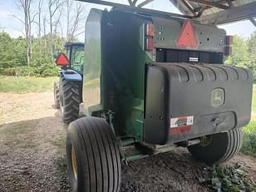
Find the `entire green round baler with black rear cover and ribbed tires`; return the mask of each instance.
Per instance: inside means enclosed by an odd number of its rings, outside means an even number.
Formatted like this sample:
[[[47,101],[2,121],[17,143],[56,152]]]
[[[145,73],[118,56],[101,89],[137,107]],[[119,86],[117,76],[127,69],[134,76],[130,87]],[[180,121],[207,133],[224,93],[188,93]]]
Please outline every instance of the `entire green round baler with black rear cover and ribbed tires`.
[[[71,189],[119,191],[121,162],[174,147],[208,164],[232,158],[253,87],[251,71],[223,64],[232,38],[185,15],[112,5],[87,17],[82,94],[61,74],[62,107],[78,114],[82,95],[86,114],[67,129]]]

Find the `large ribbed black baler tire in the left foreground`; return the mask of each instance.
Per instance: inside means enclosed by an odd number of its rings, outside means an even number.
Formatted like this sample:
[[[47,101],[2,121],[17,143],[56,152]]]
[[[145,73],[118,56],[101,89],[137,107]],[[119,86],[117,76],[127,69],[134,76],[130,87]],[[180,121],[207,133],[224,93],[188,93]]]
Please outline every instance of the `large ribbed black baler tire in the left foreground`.
[[[73,161],[72,151],[76,156]],[[71,122],[66,136],[66,161],[72,191],[120,190],[121,157],[104,119],[83,117]]]

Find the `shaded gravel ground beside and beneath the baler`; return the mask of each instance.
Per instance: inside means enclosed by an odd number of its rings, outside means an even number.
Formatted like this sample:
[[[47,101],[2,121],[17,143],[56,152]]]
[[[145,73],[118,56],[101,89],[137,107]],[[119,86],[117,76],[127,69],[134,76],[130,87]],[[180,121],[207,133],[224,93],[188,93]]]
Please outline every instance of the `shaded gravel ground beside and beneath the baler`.
[[[69,191],[66,124],[54,117],[0,126],[0,191]],[[121,191],[210,191],[199,184],[204,165],[186,150],[122,165]]]

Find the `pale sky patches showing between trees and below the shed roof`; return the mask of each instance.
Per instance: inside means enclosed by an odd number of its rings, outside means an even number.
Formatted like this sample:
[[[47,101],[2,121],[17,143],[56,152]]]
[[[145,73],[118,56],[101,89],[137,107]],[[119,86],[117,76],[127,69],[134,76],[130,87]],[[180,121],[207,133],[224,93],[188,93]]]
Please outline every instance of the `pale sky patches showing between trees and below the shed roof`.
[[[32,2],[33,2],[32,9],[36,9],[38,0],[33,0]],[[47,2],[48,0],[44,0],[45,5],[43,8],[44,9],[43,14],[47,14]],[[111,0],[111,2],[126,3],[126,0]],[[85,14],[89,12],[91,7],[96,7],[101,9],[104,8],[104,6],[97,6],[97,5],[86,3],[86,2],[84,2],[83,4],[86,7]],[[167,11],[167,12],[179,13],[179,10],[176,7],[174,7],[169,2],[169,0],[155,0],[155,2],[151,2],[149,5],[147,5],[147,7],[162,10],[162,11]],[[22,31],[23,31],[22,23],[19,22],[14,17],[12,17],[12,15],[22,17],[22,12],[19,11],[16,0],[8,0],[8,1],[0,0],[0,28],[8,32],[12,37],[22,36]],[[63,15],[62,19],[65,19],[65,15]],[[227,31],[228,35],[237,34],[245,38],[249,37],[252,32],[256,31],[256,27],[254,27],[254,25],[249,21],[234,22],[234,23],[230,23],[228,25],[222,25],[219,27],[224,28]],[[34,35],[37,34],[36,26],[33,27],[32,33]],[[83,41],[83,38],[84,38],[83,35],[79,37],[81,41]]]

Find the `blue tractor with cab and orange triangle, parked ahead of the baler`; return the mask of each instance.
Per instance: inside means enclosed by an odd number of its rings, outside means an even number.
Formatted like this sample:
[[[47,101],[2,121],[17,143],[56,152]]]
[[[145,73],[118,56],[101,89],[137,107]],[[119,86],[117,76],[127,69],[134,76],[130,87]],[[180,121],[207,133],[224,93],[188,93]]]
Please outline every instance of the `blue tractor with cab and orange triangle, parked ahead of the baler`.
[[[78,118],[82,102],[84,43],[66,42],[64,47],[66,55],[59,54],[56,61],[62,70],[59,81],[54,82],[53,92],[55,106],[62,112],[62,120],[69,123]]]

